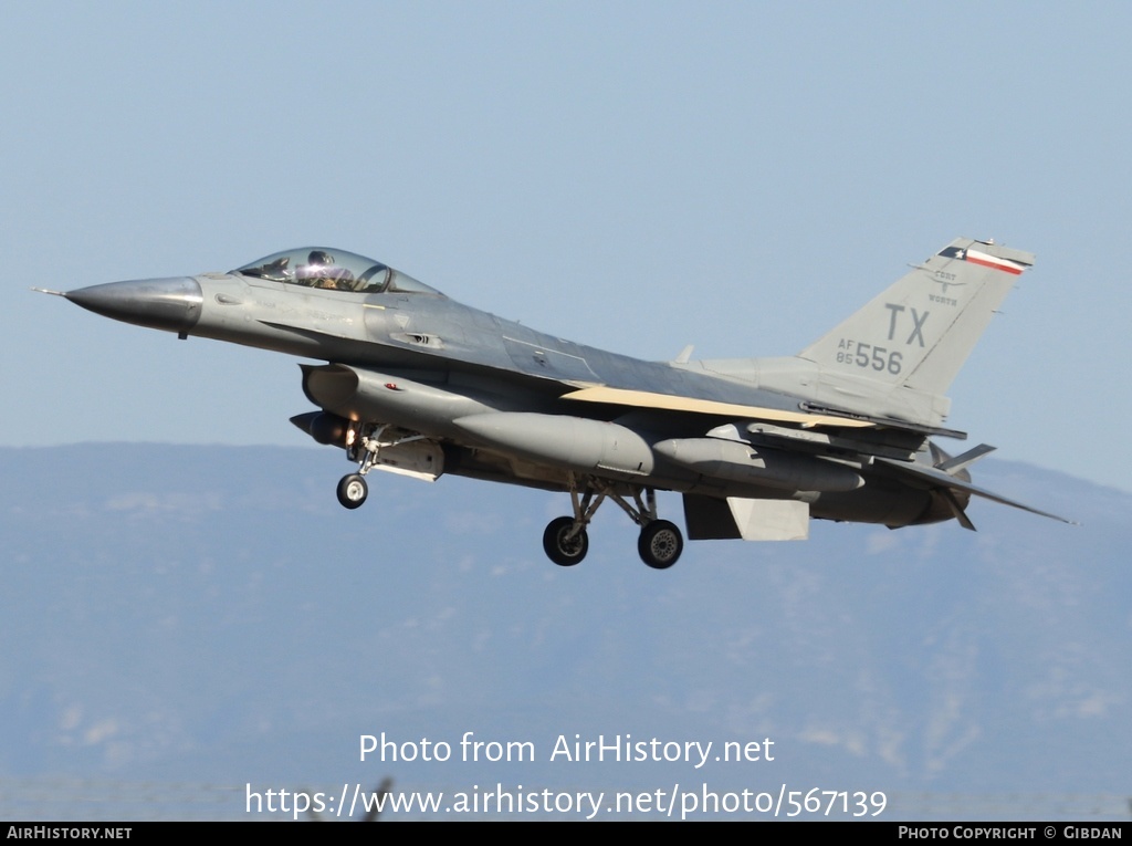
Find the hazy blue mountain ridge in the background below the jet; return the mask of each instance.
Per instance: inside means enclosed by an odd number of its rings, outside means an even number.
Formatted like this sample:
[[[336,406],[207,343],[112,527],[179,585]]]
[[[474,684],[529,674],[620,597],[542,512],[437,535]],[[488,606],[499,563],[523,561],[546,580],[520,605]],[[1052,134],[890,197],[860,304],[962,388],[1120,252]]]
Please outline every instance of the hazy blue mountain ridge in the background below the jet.
[[[980,503],[977,533],[815,523],[658,573],[612,507],[561,570],[540,537],[564,496],[377,473],[346,512],[348,469],[0,451],[0,776],[1132,793],[1132,495],[988,460],[979,482],[1082,525]],[[362,734],[469,730],[538,760],[358,760]],[[549,761],[559,734],[770,737],[775,760]]]

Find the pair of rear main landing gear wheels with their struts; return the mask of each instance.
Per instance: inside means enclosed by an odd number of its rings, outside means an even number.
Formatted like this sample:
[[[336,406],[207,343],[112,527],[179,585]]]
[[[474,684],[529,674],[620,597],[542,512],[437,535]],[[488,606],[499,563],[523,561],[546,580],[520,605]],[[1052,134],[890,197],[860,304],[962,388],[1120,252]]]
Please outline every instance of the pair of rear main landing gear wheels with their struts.
[[[641,494],[644,494],[642,501]],[[617,503],[637,525],[637,554],[641,561],[653,570],[668,570],[684,552],[684,536],[675,523],[657,519],[657,495],[652,488],[633,487],[633,502],[616,493],[611,485],[600,479],[590,479],[584,493],[577,490],[577,480],[571,473],[571,503],[574,516],[555,518],[542,532],[542,548],[555,564],[572,567],[590,550],[590,538],[585,531],[593,514],[607,498]]]

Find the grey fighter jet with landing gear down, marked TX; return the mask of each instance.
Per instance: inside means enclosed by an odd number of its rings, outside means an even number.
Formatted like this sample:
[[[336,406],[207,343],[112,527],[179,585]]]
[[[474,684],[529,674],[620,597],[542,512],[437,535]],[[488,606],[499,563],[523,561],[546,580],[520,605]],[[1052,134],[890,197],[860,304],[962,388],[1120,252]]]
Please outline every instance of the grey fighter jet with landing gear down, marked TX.
[[[951,456],[946,391],[1034,256],[961,238],[794,357],[642,361],[565,341],[449,299],[381,262],[325,247],[229,273],[60,293],[106,317],[258,347],[300,364],[317,410],[291,421],[345,451],[337,497],[371,470],[457,475],[569,495],[547,556],[572,566],[606,501],[640,528],[651,567],[676,563],[678,492],[692,540],[808,537],[812,518],[906,525],[955,520],[980,496],[1063,520],[971,484],[994,447]],[[1069,522],[1069,521],[1065,521]]]

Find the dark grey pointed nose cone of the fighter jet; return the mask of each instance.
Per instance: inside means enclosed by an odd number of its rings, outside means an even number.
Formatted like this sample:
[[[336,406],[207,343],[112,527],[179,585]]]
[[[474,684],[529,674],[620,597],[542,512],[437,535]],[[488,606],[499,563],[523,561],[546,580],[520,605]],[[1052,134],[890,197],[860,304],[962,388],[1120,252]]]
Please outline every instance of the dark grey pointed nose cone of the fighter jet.
[[[197,325],[204,302],[200,283],[191,276],[108,282],[63,297],[103,317],[178,333]]]

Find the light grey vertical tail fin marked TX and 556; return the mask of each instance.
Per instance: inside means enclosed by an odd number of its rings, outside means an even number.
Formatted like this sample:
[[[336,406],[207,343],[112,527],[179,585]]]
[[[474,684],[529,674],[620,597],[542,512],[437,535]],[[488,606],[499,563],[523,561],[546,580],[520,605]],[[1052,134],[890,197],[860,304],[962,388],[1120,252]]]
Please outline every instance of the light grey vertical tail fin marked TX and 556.
[[[1014,281],[1032,264],[1029,253],[959,238],[798,358],[824,374],[942,396]]]

